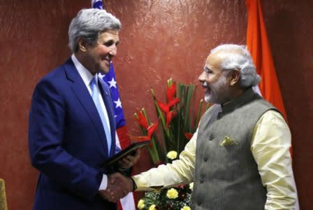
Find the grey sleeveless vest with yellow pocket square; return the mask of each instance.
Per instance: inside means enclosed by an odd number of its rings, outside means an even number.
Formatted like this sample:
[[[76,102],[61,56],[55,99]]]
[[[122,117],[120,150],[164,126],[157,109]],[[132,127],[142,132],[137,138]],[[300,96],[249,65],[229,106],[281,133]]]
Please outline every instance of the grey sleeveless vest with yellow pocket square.
[[[254,126],[270,109],[275,108],[249,88],[204,114],[196,145],[193,210],[264,209],[267,190],[250,148]]]

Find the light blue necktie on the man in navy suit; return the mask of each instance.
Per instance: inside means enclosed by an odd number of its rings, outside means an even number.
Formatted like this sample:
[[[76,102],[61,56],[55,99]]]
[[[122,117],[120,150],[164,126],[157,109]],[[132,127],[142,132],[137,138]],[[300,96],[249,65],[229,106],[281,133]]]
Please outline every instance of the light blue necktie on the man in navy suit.
[[[101,108],[101,104],[100,104],[100,98],[99,98],[99,87],[97,87],[97,83],[96,83],[96,78],[92,78],[92,81],[90,82],[90,87],[92,88],[92,99],[94,100],[94,104],[96,105],[96,109],[98,110],[99,116],[101,118],[102,124],[103,124],[103,128],[105,131],[105,137],[108,143],[108,153],[110,153],[110,148],[111,148],[111,144],[112,144],[112,139],[111,139],[111,135],[110,135],[110,130],[109,130],[109,125],[105,120],[105,116],[103,113],[103,110]]]

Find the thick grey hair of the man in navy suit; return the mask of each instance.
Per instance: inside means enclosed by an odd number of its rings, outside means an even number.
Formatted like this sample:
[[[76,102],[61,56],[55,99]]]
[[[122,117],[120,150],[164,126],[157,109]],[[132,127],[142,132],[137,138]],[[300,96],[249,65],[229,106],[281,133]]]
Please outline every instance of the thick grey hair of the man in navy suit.
[[[95,45],[100,33],[120,29],[121,22],[111,13],[96,8],[84,8],[73,18],[68,28],[68,47],[72,52],[77,52],[78,38]]]

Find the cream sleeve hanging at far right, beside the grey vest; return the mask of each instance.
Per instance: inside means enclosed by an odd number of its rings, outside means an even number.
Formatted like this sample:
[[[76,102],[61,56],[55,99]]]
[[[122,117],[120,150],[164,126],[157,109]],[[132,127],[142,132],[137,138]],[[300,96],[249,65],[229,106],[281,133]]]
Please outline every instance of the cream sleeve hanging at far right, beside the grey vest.
[[[291,133],[282,115],[277,111],[265,112],[254,127],[251,150],[268,190],[267,210],[297,209],[290,147]]]

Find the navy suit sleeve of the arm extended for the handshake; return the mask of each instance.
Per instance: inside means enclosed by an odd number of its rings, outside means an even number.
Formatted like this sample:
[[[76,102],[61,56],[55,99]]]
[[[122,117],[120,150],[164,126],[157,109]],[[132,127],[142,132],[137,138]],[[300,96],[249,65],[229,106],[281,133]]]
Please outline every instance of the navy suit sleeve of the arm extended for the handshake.
[[[47,80],[36,86],[29,113],[29,153],[36,169],[76,195],[96,195],[102,174],[67,153],[64,144],[66,105]]]

